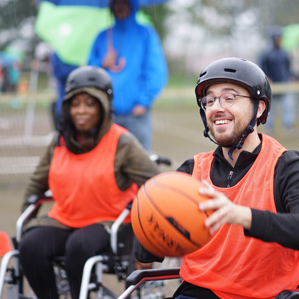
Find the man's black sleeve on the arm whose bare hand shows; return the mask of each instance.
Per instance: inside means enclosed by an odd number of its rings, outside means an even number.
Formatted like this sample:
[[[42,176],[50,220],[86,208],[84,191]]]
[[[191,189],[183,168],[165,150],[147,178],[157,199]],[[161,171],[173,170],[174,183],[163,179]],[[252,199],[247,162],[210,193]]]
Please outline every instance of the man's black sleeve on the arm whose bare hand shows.
[[[287,151],[274,169],[277,213],[251,209],[252,224],[246,236],[299,250],[299,152]]]

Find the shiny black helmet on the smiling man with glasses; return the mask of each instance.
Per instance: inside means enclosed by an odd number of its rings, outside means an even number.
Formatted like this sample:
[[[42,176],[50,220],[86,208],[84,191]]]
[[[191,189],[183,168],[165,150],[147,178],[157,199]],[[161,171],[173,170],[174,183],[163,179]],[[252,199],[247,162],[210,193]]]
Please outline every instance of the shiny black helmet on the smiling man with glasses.
[[[248,60],[233,57],[210,63],[202,70],[196,83],[195,94],[199,107],[201,107],[199,100],[205,96],[207,87],[213,83],[222,82],[237,83],[248,89],[255,99],[264,100],[266,109],[258,118],[257,125],[266,123],[272,95],[268,78],[260,67]]]

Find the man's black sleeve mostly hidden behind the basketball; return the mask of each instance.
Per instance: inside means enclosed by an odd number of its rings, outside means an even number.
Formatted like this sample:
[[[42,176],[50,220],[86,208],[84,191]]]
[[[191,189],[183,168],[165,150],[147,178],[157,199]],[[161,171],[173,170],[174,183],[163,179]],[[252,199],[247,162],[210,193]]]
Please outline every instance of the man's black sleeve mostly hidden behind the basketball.
[[[194,167],[194,159],[188,159],[185,161],[178,169],[177,171],[181,171],[184,173],[190,173],[192,174]],[[156,257],[155,255],[148,252],[138,241],[138,239],[134,236],[133,241],[133,251],[135,258],[141,262],[141,263],[152,263],[152,262],[162,262],[163,259]]]

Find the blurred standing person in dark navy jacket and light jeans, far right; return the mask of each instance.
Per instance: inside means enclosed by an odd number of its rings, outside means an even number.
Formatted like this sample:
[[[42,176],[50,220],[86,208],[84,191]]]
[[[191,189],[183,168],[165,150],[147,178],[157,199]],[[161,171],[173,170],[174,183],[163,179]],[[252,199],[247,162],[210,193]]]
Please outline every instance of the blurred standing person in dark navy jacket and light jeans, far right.
[[[260,57],[260,67],[269,78],[270,83],[282,83],[294,80],[290,70],[288,53],[281,48],[282,28],[272,29],[271,39],[273,46],[266,50]],[[273,130],[274,120],[277,119],[277,109],[282,109],[282,123],[285,133],[293,134],[296,119],[295,101],[296,95],[292,92],[273,94],[272,109],[266,123],[268,131]]]

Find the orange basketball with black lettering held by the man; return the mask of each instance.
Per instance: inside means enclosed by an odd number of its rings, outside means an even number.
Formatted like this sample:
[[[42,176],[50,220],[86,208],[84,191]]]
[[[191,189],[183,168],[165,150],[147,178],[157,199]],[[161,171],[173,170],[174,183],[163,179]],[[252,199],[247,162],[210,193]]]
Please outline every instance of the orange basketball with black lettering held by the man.
[[[131,209],[132,228],[141,245],[158,257],[180,257],[198,250],[210,238],[204,221],[209,213],[198,204],[203,184],[182,172],[166,172],[140,187]]]

